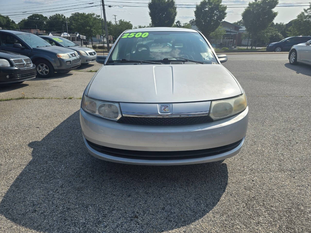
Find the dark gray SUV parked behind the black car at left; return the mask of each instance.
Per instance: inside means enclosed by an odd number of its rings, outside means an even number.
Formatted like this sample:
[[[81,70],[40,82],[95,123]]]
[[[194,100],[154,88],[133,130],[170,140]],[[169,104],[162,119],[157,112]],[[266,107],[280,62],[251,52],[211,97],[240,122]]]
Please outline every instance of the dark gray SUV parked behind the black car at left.
[[[0,30],[0,49],[30,57],[41,78],[49,78],[54,72],[67,73],[81,65],[76,51],[52,46],[39,36],[23,31]]]

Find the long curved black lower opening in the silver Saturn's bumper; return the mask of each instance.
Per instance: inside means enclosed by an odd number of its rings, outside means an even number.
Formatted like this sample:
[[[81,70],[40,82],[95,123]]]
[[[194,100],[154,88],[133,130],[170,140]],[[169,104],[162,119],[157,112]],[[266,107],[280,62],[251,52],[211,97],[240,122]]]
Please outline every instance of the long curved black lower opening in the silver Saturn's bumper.
[[[208,148],[202,150],[186,150],[186,151],[138,151],[138,150],[123,150],[97,145],[86,140],[87,144],[94,150],[108,154],[111,156],[130,158],[130,159],[147,159],[147,160],[174,160],[174,159],[189,159],[202,158],[220,153],[225,153],[233,150],[242,142],[243,139],[225,146]]]

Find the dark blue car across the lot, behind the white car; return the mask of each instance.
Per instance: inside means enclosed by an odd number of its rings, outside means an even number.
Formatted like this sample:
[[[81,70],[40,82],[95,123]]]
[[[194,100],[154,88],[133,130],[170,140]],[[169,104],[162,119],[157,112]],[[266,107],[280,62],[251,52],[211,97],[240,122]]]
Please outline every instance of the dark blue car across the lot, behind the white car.
[[[279,42],[268,44],[266,51],[269,51],[269,52],[290,51],[293,45],[300,44],[300,43],[306,43],[308,40],[311,40],[311,36],[287,37],[285,39],[282,39]]]

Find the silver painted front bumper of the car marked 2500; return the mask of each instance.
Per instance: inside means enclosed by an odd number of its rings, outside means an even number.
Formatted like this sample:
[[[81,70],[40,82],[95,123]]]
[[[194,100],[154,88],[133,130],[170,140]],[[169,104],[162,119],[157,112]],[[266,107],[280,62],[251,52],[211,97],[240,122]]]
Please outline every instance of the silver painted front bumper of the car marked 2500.
[[[80,108],[82,134],[88,151],[111,162],[142,165],[182,165],[222,160],[239,153],[248,126],[248,107],[241,113],[220,121],[186,126],[137,126],[107,121]],[[241,140],[242,139],[242,140]],[[240,141],[241,140],[241,141]],[[240,143],[223,153],[185,159],[136,159],[101,153],[87,142],[107,148],[140,152],[194,151]]]

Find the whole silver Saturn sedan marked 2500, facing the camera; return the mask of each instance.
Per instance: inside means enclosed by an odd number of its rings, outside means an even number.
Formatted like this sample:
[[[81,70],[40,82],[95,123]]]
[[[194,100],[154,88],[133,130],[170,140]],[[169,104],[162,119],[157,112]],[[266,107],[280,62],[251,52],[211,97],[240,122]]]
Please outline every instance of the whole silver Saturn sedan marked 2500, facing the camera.
[[[100,59],[103,59],[102,61]],[[121,34],[87,85],[80,108],[95,157],[142,165],[222,162],[239,153],[248,125],[243,88],[197,30]]]

